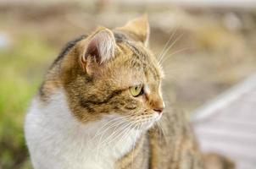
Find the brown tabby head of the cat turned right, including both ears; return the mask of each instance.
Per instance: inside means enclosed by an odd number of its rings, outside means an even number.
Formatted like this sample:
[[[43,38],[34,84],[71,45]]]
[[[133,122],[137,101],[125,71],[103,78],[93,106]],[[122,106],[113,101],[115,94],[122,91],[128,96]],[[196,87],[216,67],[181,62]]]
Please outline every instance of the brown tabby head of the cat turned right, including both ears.
[[[148,35],[147,16],[114,30],[99,28],[53,64],[79,121],[116,116],[148,128],[159,120],[163,73],[147,48]]]

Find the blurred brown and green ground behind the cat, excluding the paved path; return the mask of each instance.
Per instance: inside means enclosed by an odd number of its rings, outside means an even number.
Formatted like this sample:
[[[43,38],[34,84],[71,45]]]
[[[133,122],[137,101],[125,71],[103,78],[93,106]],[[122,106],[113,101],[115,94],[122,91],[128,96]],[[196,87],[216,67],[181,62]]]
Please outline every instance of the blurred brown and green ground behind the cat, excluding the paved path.
[[[31,168],[24,117],[66,42],[147,13],[156,56],[170,39],[164,93],[190,115],[256,71],[253,0],[0,0],[0,168]]]

